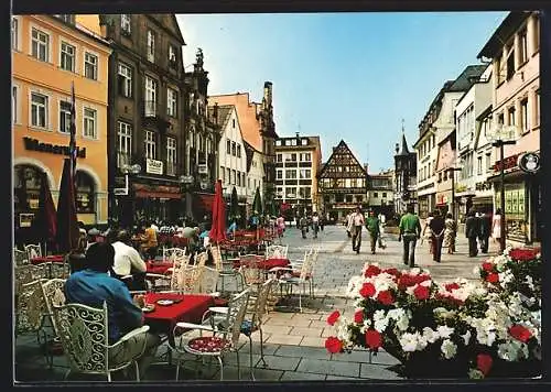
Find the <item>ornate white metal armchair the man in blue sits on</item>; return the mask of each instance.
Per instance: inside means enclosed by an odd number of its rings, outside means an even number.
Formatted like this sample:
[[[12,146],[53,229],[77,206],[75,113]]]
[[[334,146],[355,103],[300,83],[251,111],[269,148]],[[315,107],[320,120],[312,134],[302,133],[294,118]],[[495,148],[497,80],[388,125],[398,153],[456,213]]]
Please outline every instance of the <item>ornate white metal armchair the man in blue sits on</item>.
[[[122,336],[117,342],[109,345],[107,304],[101,308],[83,304],[66,304],[53,306],[54,318],[60,330],[63,351],[67,358],[69,369],[65,379],[72,373],[105,374],[111,382],[111,373],[134,366],[136,380],[140,381],[138,359],[145,351],[147,339],[137,355],[128,360],[111,363],[109,352],[117,350],[132,338],[149,330],[149,326],[136,328]]]

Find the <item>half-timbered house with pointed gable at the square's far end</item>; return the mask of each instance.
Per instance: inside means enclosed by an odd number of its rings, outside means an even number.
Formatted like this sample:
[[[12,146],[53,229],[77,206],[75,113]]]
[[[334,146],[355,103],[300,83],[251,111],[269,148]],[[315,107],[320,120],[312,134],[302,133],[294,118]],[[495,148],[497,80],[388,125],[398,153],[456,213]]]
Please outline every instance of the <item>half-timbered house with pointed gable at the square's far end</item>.
[[[344,140],[333,148],[333,153],[320,171],[317,188],[325,218],[329,221],[343,221],[357,206],[363,210],[368,208],[367,171]]]

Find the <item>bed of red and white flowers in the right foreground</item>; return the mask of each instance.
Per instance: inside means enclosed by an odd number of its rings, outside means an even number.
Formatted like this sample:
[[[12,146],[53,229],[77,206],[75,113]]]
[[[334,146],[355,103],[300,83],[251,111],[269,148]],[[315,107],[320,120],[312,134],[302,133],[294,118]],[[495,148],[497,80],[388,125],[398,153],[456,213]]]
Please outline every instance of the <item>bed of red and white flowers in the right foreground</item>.
[[[436,283],[429,271],[366,264],[348,283],[353,319],[327,323],[329,352],[383,348],[406,377],[532,377],[541,372],[541,259],[507,249],[477,266],[480,281]]]

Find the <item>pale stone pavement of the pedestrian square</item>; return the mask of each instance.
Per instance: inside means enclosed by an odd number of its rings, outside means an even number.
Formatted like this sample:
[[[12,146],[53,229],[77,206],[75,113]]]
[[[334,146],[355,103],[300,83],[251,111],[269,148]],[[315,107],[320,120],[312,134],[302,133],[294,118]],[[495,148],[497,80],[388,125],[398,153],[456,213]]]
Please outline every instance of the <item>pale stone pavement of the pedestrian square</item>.
[[[378,262],[383,266],[407,268],[401,261],[402,244],[392,235],[386,236],[387,248],[377,249],[376,254],[369,250],[367,232],[364,231],[363,244],[359,254],[353,252],[350,240],[343,226],[327,226],[321,231],[317,239],[309,232],[302,239],[296,228],[289,228],[283,243],[289,244],[291,260],[300,260],[312,246],[320,247],[317,263],[314,268],[315,292],[314,298],[304,298],[303,312],[291,308],[287,312],[270,312],[263,326],[264,368],[260,361],[259,335],[252,337],[253,373],[256,380],[293,381],[293,380],[399,380],[397,371],[399,362],[386,352],[369,357],[365,350],[358,349],[353,353],[331,355],[324,348],[325,338],[333,335],[333,328],[326,323],[327,315],[339,309],[350,316],[354,312],[353,300],[345,297],[345,288],[350,276],[359,274],[365,262]],[[490,254],[496,252],[497,246],[490,244]],[[487,255],[467,257],[466,239],[458,237],[457,252],[453,255],[443,254],[442,263],[432,261],[428,243],[418,244],[417,263],[429,269],[436,281],[453,280],[455,277],[476,279],[473,269]],[[296,290],[295,290],[296,291]],[[291,305],[296,304],[293,297]],[[239,362],[241,363],[241,380],[250,380],[249,342],[241,336]],[[165,348],[160,348],[162,352]],[[55,366],[48,370],[44,364],[33,336],[18,337],[17,349],[17,379],[21,381],[63,380],[66,361],[63,356],[55,357]],[[190,358],[192,359],[192,358]],[[236,356],[225,357],[224,380],[237,380]],[[219,372],[216,361],[212,366],[201,367],[195,371],[193,361],[186,362],[182,381],[218,380]],[[144,381],[166,382],[174,380],[174,366],[153,366],[143,377]],[[79,378],[75,378],[80,380]],[[116,378],[117,379],[117,378]],[[119,377],[120,379],[120,377]]]

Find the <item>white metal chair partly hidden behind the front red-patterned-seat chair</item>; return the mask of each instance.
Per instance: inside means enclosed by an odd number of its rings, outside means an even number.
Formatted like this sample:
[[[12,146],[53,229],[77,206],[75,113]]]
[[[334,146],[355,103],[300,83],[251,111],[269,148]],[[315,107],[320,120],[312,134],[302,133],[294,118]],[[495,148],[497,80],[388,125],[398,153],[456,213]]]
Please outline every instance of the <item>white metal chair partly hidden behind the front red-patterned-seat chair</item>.
[[[249,367],[250,367],[250,375],[252,380],[255,380],[255,373],[252,371],[253,366],[252,366],[252,334],[256,331],[260,333],[260,360],[262,361],[262,364],[264,368],[267,367],[266,360],[264,360],[264,340],[262,337],[262,323],[263,323],[263,316],[267,313],[267,302],[268,297],[270,295],[270,292],[273,287],[273,285],[278,281],[274,279],[269,279],[264,283],[262,283],[258,295],[256,296],[249,296],[249,304],[247,308],[247,313],[245,315],[245,319],[241,324],[241,334],[247,336],[249,339]],[[252,303],[251,303],[252,300]],[[209,311],[214,314],[223,314],[225,315],[228,312],[227,307],[210,307]]]

